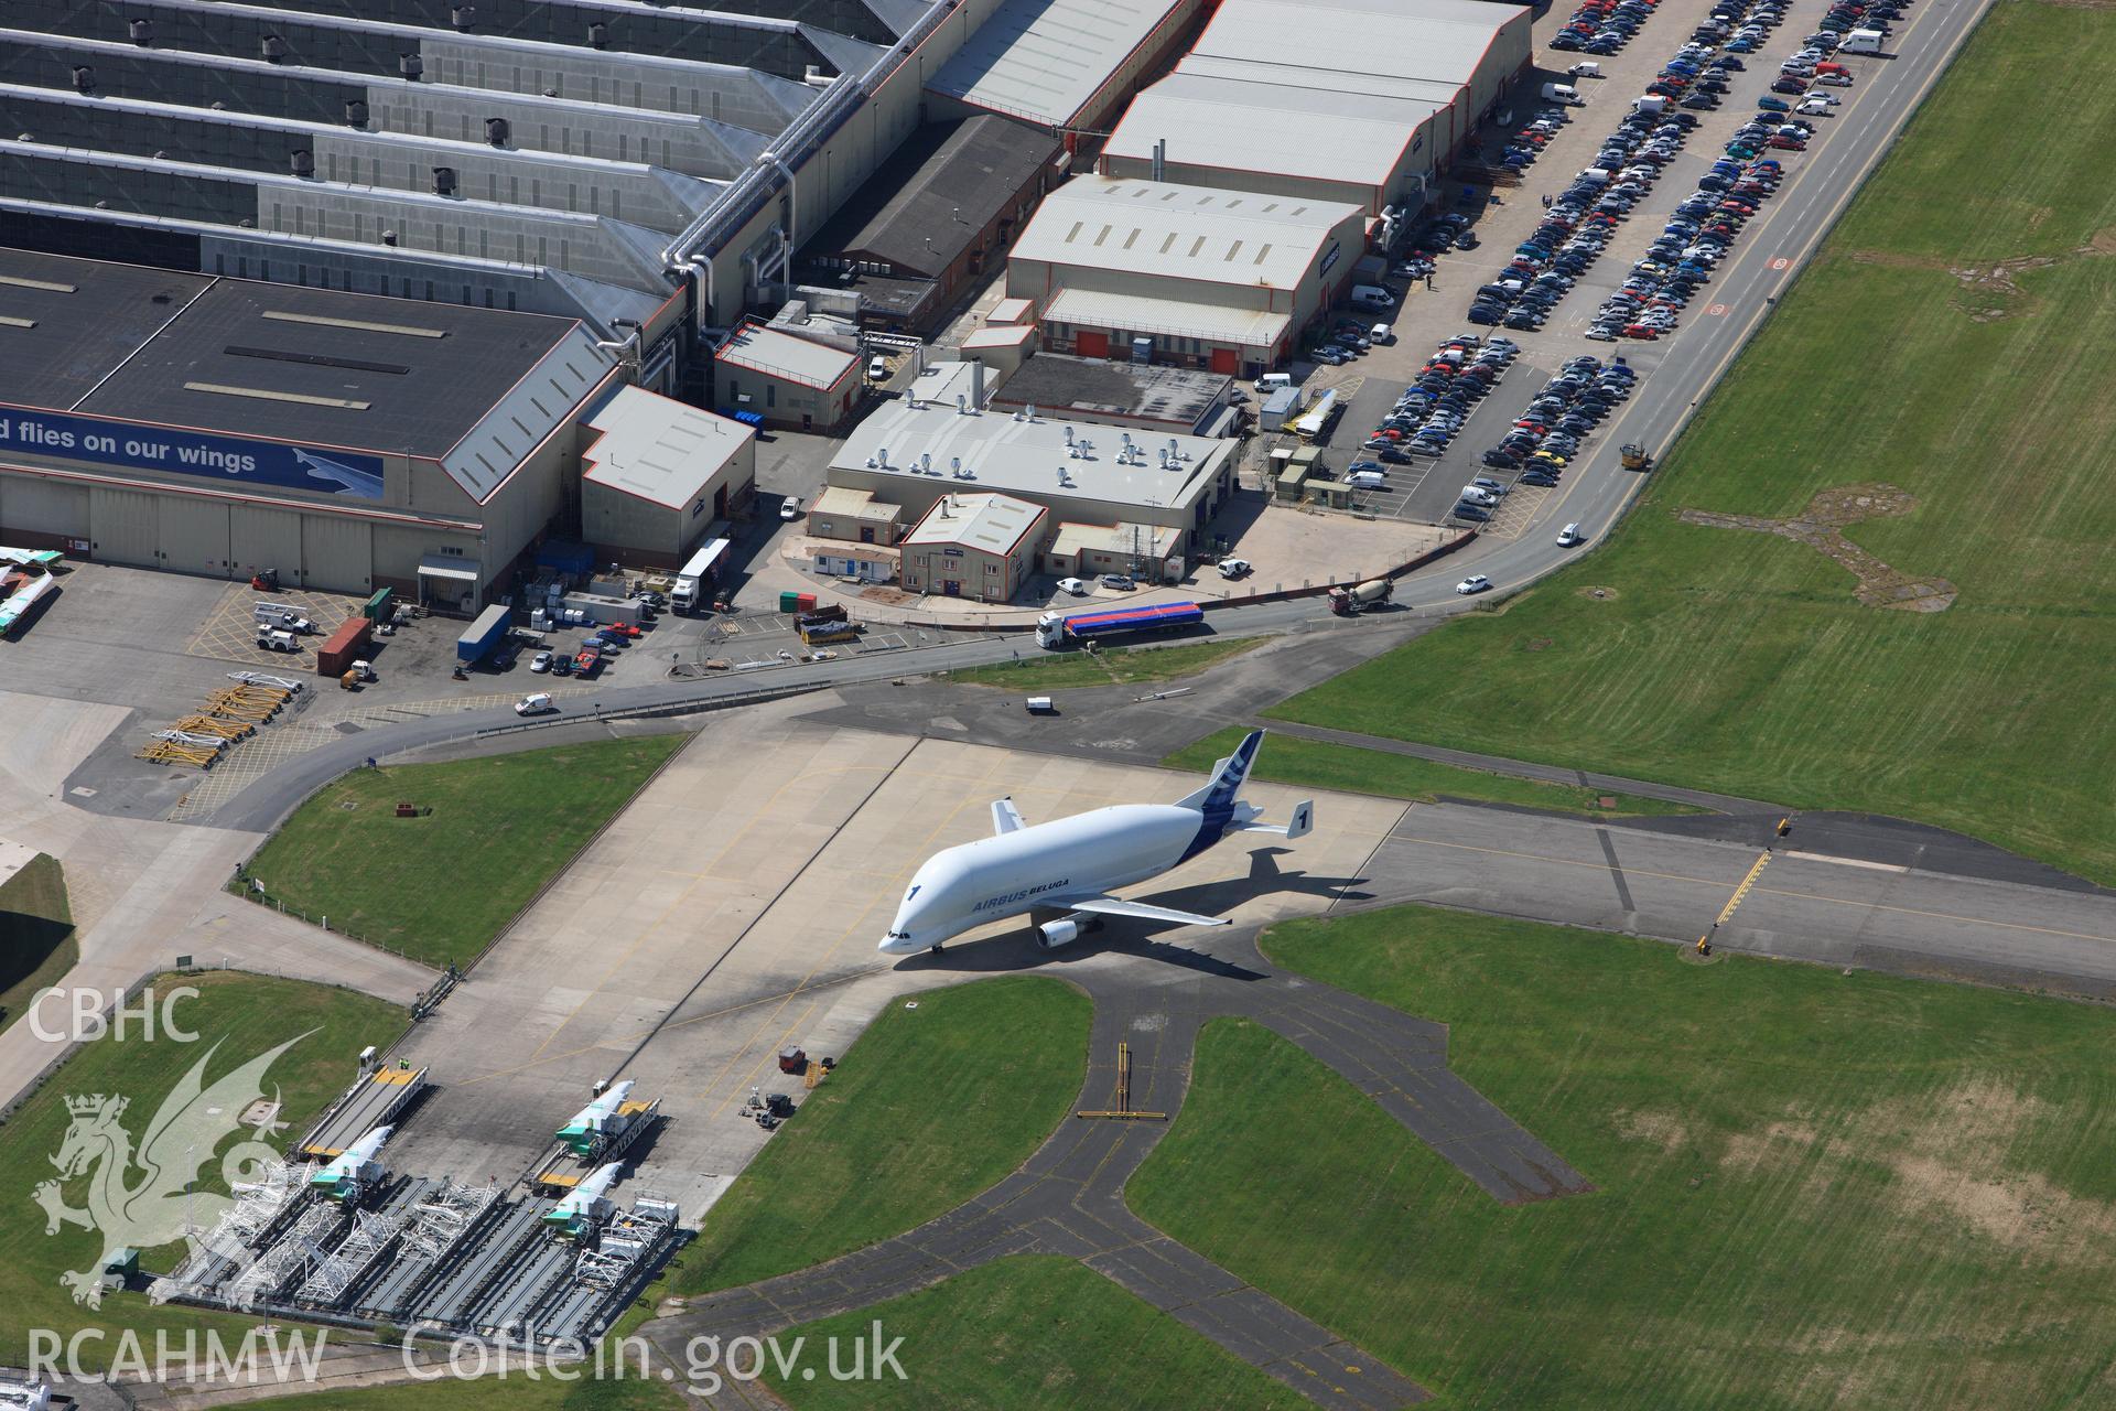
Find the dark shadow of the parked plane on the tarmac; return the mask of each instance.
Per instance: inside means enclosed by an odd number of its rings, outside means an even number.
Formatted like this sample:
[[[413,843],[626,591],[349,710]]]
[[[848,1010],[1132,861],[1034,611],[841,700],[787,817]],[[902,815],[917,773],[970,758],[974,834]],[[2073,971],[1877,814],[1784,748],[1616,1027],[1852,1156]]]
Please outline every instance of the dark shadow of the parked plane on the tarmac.
[[[1291,855],[1291,848],[1257,848],[1248,855],[1248,876],[1223,882],[1202,882],[1198,886],[1176,886],[1164,893],[1141,893],[1138,901],[1151,901],[1153,905],[1176,908],[1181,912],[1198,912],[1204,916],[1225,916],[1234,912],[1244,901],[1257,897],[1278,897],[1278,895],[1299,895],[1299,897],[1327,897],[1331,903],[1337,901],[1367,901],[1371,893],[1350,891],[1365,882],[1367,878],[1318,878],[1306,872],[1282,872],[1278,859]],[[1329,910],[1329,908],[1325,908]],[[959,971],[959,973],[1005,973],[1039,969],[1045,965],[1071,965],[1088,960],[1105,952],[1119,952],[1128,956],[1143,956],[1149,960],[1164,960],[1166,965],[1176,965],[1183,969],[1200,971],[1206,975],[1219,975],[1225,979],[1265,979],[1263,971],[1253,971],[1246,965],[1229,960],[1217,950],[1223,950],[1223,939],[1229,935],[1246,937],[1255,927],[1227,927],[1200,931],[1196,946],[1174,946],[1168,941],[1151,939],[1155,931],[1170,931],[1181,927],[1170,927],[1166,922],[1153,920],[1130,920],[1130,918],[1105,918],[1096,931],[1090,931],[1079,941],[1071,946],[1060,946],[1058,950],[1043,950],[1035,943],[1030,927],[1024,922],[1018,931],[1007,935],[995,935],[982,941],[969,941],[961,948],[950,946],[940,954],[918,954],[908,956],[897,965],[904,971]],[[1251,943],[1242,939],[1240,950],[1248,952]]]

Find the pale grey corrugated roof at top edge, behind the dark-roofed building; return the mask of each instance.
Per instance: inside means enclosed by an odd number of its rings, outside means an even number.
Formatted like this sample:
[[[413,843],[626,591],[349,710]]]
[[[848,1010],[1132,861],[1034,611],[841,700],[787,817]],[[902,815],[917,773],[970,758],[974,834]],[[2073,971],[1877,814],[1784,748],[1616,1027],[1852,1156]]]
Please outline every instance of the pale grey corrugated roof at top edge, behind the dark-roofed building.
[[[978,108],[1066,127],[1183,2],[1007,0],[927,87]]]

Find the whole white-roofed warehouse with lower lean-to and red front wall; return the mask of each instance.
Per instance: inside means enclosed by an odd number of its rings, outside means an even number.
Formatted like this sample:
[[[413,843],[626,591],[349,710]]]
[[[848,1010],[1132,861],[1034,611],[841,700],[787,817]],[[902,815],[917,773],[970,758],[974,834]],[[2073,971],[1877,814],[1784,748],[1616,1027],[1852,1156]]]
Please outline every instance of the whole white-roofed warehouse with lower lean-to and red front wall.
[[[1352,283],[1367,212],[1344,201],[1083,176],[1043,199],[1007,294],[1043,347],[1259,377]]]

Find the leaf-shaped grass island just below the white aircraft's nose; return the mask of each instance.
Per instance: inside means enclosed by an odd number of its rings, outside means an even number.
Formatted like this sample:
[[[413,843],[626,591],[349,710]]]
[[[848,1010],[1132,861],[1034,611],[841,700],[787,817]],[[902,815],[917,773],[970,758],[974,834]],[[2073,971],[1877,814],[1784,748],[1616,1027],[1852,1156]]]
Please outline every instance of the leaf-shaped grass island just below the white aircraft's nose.
[[[705,1231],[671,1293],[806,1269],[899,1235],[1043,1144],[1088,1077],[1088,996],[1011,975],[893,1003],[808,1094]]]

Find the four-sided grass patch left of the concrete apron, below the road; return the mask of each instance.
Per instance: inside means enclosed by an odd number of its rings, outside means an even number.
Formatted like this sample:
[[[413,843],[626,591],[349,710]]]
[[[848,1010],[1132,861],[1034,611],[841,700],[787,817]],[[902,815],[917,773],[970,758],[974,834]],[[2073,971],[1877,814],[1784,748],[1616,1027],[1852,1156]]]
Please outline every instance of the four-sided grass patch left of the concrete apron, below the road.
[[[248,876],[334,931],[463,965],[688,740],[650,734],[353,770],[294,810]],[[398,819],[400,802],[432,812]]]

